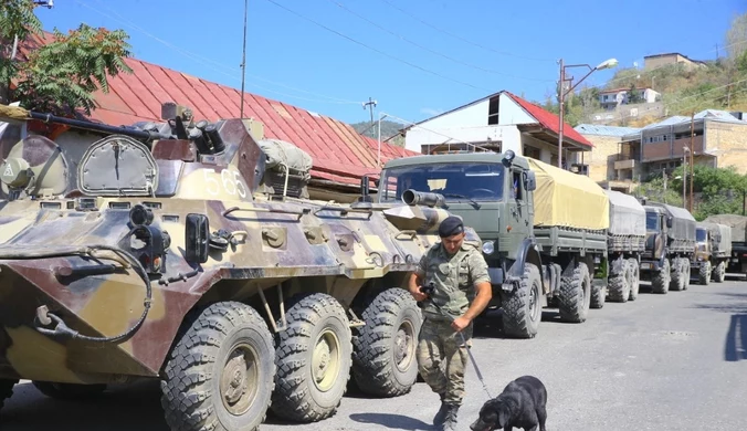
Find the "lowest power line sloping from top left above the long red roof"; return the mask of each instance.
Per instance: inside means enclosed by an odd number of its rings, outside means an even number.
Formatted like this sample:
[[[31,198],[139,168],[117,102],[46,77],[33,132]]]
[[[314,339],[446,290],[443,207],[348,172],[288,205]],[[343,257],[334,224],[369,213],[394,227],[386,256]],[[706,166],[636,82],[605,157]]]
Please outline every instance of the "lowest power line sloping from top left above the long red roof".
[[[99,2],[98,0],[95,0],[95,1],[96,1],[96,2]],[[230,78],[232,78],[232,80],[238,80],[236,76],[235,76],[233,73],[227,73],[227,72],[225,72],[225,71],[232,71],[232,72],[234,72],[234,71],[235,71],[234,67],[231,67],[231,66],[228,66],[228,65],[225,65],[225,64],[219,63],[219,62],[217,62],[217,61],[214,61],[214,60],[211,60],[211,59],[201,56],[201,55],[196,54],[196,53],[193,53],[193,52],[190,52],[190,51],[187,51],[187,50],[185,50],[185,49],[181,49],[181,48],[179,48],[179,46],[177,46],[177,45],[175,45],[175,44],[172,44],[172,43],[170,43],[170,42],[168,42],[168,41],[165,41],[165,40],[162,40],[162,39],[160,39],[160,38],[154,35],[154,34],[149,33],[148,31],[146,31],[145,29],[138,27],[137,24],[133,23],[131,21],[129,21],[129,20],[123,18],[123,17],[122,17],[120,14],[118,14],[115,10],[113,10],[113,9],[106,7],[106,6],[104,6],[104,7],[105,7],[107,10],[109,10],[112,13],[114,13],[115,15],[117,15],[117,17],[119,17],[119,18],[112,17],[112,15],[109,15],[109,14],[107,14],[107,13],[105,13],[105,12],[103,12],[103,11],[101,11],[101,10],[98,10],[98,9],[96,9],[96,8],[94,8],[94,7],[92,7],[92,6],[90,6],[90,4],[86,4],[85,2],[83,2],[83,1],[81,1],[81,0],[75,0],[75,2],[78,3],[78,4],[81,4],[81,6],[83,6],[83,7],[85,7],[85,8],[87,8],[87,9],[91,9],[92,11],[94,11],[94,12],[96,12],[96,13],[103,15],[103,17],[106,17],[106,18],[113,20],[113,21],[116,21],[116,22],[118,22],[118,23],[120,23],[120,24],[124,24],[124,25],[134,28],[135,30],[137,30],[137,31],[139,31],[140,33],[147,35],[148,38],[158,41],[159,43],[164,44],[165,46],[167,46],[167,48],[169,48],[169,49],[171,49],[171,50],[173,50],[173,51],[176,51],[176,52],[178,52],[178,53],[180,53],[180,54],[187,56],[188,59],[190,59],[190,60],[192,60],[192,61],[194,61],[194,62],[197,62],[197,63],[200,63],[200,64],[206,65],[208,69],[210,69],[210,70],[212,70],[212,71],[214,71],[214,72],[218,72],[218,73],[220,73],[220,74],[222,74],[222,75],[225,75],[225,76],[228,76],[228,77],[230,77]],[[215,69],[214,66],[211,66],[211,65],[209,65],[209,64],[207,64],[207,63],[212,63],[212,64],[214,64],[214,65],[217,65],[217,66],[219,66],[219,67],[224,69],[225,71],[218,70],[218,69]],[[316,98],[302,97],[302,96],[297,96],[297,95],[293,95],[293,94],[287,94],[287,93],[278,92],[278,91],[276,91],[276,90],[267,88],[267,87],[262,86],[262,85],[256,84],[256,83],[251,83],[251,85],[253,85],[253,86],[256,87],[256,88],[260,88],[260,90],[263,90],[263,91],[266,91],[266,92],[270,92],[270,93],[274,93],[274,94],[277,94],[277,95],[282,95],[282,96],[285,96],[285,97],[291,97],[291,98],[296,98],[296,99],[307,101],[307,102],[315,102],[315,103],[332,103],[332,104],[348,104],[348,105],[359,105],[359,104],[360,104],[360,102],[356,102],[356,101],[349,101],[349,99],[344,99],[344,98],[333,97],[333,96],[328,96],[328,95],[325,95],[325,94],[319,94],[319,93],[314,93],[314,92],[309,92],[309,91],[302,90],[302,88],[296,88],[296,87],[293,87],[293,86],[290,86],[290,85],[286,85],[286,84],[283,84],[283,83],[278,83],[278,82],[275,82],[275,81],[266,80],[266,78],[264,78],[264,77],[262,77],[262,76],[257,76],[257,75],[248,74],[246,76],[249,76],[249,77],[251,77],[251,78],[253,78],[253,80],[266,82],[266,83],[269,83],[269,84],[277,85],[277,86],[281,86],[281,87],[284,87],[284,88],[288,88],[288,90],[292,90],[292,91],[296,91],[296,92],[301,92],[301,93],[306,93],[306,94],[314,95],[314,96],[317,96],[317,97],[328,98],[329,101],[323,101],[323,99],[316,99]]]

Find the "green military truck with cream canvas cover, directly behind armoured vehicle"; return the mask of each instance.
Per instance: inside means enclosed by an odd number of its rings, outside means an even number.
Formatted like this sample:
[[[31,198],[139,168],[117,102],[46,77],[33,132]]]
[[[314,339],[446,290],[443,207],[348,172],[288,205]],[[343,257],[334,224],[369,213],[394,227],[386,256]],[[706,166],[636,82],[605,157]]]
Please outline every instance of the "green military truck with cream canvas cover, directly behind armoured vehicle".
[[[537,334],[544,306],[581,323],[592,283],[606,284],[609,199],[590,178],[514,151],[454,153],[388,161],[378,202],[427,197],[480,235],[504,333]],[[435,197],[435,198],[433,198]],[[602,287],[603,288],[603,287]]]

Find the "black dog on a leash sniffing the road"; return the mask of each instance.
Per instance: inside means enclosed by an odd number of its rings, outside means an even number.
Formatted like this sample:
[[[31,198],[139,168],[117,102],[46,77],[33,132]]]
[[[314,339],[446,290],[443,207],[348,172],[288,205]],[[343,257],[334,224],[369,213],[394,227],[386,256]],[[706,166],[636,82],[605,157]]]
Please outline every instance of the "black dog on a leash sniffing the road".
[[[506,386],[496,398],[480,409],[480,418],[470,425],[473,431],[512,431],[514,427],[525,431],[547,431],[547,389],[534,376],[522,376]]]

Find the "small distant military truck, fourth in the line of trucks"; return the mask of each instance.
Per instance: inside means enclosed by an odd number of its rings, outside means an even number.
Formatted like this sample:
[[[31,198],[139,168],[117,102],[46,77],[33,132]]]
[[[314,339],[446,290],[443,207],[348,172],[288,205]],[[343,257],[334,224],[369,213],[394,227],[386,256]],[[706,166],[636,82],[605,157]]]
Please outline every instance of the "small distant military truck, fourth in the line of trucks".
[[[712,276],[716,283],[724,282],[730,255],[732,228],[719,223],[695,223],[695,254],[690,267],[699,284],[711,284]]]

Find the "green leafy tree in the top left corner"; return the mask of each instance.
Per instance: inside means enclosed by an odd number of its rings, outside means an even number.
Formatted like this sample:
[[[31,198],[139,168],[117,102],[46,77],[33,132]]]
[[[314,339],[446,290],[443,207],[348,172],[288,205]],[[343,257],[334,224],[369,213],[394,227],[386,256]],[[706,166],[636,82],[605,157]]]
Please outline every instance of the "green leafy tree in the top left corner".
[[[10,32],[25,39],[40,31],[31,0],[1,3],[0,17],[0,22],[9,23],[8,28],[0,28],[0,39],[12,36]],[[28,32],[18,33],[19,28],[28,29]],[[127,39],[123,30],[93,29],[86,24],[67,34],[54,29],[53,41],[32,51],[25,62],[13,62],[3,56],[0,64],[4,69],[0,73],[17,82],[12,91],[8,85],[9,99],[19,101],[29,109],[57,115],[75,115],[76,109],[91,115],[95,109],[93,93],[97,90],[108,93],[111,77],[120,72],[131,73],[125,64],[125,59],[130,55]]]

